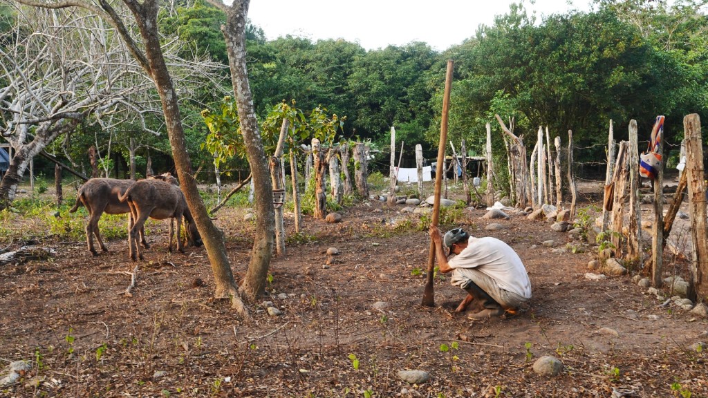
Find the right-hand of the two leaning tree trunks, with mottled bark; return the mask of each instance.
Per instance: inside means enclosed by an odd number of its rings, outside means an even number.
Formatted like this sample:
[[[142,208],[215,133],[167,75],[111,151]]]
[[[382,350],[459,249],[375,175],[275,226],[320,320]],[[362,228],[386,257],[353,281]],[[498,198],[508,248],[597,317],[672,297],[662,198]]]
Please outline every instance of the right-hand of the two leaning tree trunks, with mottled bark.
[[[241,134],[246,142],[246,154],[251,165],[253,184],[256,188],[256,236],[253,239],[251,263],[246,272],[241,292],[251,302],[265,291],[268,280],[268,266],[273,251],[273,234],[275,232],[275,210],[273,208],[273,186],[270,183],[270,170],[265,161],[261,132],[258,131],[256,110],[253,109],[253,96],[249,86],[249,75],[246,68],[246,14],[249,1],[234,0],[227,8],[227,23],[222,25],[222,33],[227,45],[229,69],[236,94],[236,105],[239,108]]]

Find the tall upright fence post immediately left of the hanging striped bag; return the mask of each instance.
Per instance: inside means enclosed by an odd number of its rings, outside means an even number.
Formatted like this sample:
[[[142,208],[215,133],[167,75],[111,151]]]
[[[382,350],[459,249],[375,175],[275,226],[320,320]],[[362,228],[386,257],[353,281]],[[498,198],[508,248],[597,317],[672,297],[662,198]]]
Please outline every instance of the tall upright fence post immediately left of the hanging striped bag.
[[[641,207],[639,207],[639,144],[636,120],[629,121],[629,234],[627,261],[641,262]]]

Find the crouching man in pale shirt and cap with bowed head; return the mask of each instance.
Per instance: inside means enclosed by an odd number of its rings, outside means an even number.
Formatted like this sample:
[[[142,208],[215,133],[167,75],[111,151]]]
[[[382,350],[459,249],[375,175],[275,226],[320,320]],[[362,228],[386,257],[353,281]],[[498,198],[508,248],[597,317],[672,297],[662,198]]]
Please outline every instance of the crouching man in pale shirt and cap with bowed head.
[[[498,317],[516,312],[531,298],[531,283],[518,254],[503,241],[493,237],[471,237],[462,228],[442,237],[438,227],[430,226],[435,244],[435,258],[441,273],[452,272],[450,282],[467,292],[455,312],[474,305],[471,319]],[[449,249],[445,256],[442,246]],[[447,257],[455,254],[448,260]]]

